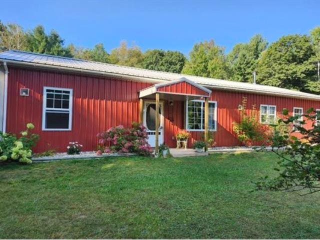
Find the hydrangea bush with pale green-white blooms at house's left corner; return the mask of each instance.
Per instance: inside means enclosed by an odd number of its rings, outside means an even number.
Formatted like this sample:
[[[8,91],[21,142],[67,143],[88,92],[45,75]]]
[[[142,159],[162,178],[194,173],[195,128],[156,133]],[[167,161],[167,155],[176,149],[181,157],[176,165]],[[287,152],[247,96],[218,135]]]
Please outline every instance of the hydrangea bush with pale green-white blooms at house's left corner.
[[[36,144],[39,135],[31,133],[34,128],[32,123],[26,124],[26,130],[21,131],[17,138],[15,134],[0,132],[0,161],[16,160],[23,163],[31,163],[31,148]]]

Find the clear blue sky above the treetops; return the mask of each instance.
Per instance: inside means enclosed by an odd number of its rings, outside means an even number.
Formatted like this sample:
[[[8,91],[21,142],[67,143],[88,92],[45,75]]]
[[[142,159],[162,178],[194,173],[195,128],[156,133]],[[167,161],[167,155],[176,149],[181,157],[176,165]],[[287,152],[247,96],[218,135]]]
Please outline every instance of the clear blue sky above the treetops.
[[[65,43],[107,49],[120,40],[142,50],[162,48],[187,54],[193,44],[213,39],[229,51],[255,33],[269,42],[285,34],[307,34],[320,25],[316,0],[309,1],[3,1],[0,20],[25,29],[55,29]]]

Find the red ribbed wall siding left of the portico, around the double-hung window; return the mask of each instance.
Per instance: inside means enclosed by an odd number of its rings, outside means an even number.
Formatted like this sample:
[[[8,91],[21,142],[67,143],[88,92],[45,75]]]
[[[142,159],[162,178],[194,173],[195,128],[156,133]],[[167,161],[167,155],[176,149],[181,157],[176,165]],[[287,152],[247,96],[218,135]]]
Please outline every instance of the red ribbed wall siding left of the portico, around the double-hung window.
[[[96,147],[96,134],[111,126],[130,126],[138,121],[138,93],[151,84],[107,77],[67,73],[9,69],[7,130],[19,133],[33,122],[40,135],[35,151],[48,148],[65,150],[69,141],[79,141],[84,150]],[[43,87],[73,89],[72,130],[42,131]],[[29,96],[19,96],[19,89],[30,89]]]

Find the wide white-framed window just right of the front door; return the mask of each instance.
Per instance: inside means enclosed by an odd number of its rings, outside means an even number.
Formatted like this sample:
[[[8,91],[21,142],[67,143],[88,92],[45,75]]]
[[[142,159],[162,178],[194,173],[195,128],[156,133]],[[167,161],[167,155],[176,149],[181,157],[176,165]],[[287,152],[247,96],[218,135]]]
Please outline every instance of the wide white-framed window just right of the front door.
[[[209,101],[209,122],[210,131],[216,130],[216,101]],[[204,101],[186,101],[186,129],[189,131],[204,131]]]

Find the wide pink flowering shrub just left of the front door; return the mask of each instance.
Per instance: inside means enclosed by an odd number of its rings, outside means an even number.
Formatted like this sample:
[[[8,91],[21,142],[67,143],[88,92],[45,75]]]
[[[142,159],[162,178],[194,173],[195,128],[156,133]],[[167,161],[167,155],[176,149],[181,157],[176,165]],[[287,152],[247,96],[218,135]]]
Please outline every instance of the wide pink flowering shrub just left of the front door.
[[[99,149],[109,152],[134,152],[139,155],[149,155],[152,150],[147,143],[145,127],[132,122],[132,127],[124,128],[122,125],[109,128],[105,132],[97,134]],[[99,152],[100,153],[100,152]]]

